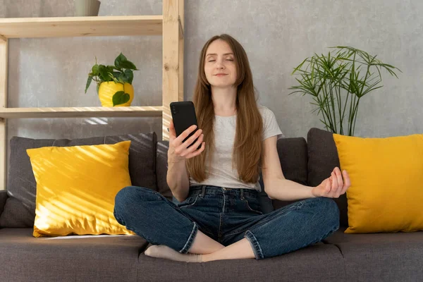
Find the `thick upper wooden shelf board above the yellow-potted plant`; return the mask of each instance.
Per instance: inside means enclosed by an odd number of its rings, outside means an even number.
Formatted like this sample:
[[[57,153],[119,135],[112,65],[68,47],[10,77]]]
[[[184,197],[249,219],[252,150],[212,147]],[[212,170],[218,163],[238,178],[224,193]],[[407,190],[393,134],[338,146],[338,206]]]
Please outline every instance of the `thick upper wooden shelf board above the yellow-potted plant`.
[[[0,18],[0,37],[162,35],[163,16]]]

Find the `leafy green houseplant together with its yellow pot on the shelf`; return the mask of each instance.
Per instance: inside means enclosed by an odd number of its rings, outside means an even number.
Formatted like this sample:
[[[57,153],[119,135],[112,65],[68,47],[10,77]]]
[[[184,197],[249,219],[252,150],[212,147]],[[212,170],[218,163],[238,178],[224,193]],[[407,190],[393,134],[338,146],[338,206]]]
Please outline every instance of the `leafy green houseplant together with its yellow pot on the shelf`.
[[[134,97],[133,71],[138,71],[137,67],[122,53],[116,57],[114,66],[99,65],[96,58],[88,74],[85,93],[94,80],[102,106],[130,106]]]

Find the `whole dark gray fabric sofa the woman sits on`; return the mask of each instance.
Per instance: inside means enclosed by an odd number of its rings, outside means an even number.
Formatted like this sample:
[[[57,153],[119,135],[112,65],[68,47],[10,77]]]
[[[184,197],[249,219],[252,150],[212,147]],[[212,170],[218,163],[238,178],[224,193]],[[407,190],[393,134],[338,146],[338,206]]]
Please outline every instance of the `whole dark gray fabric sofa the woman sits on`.
[[[0,281],[423,281],[423,232],[344,234],[345,195],[336,199],[341,228],[325,240],[279,257],[182,263],[144,255],[148,243],[137,235],[33,238],[35,179],[25,149],[132,140],[133,185],[157,190],[166,185],[168,142],[155,133],[79,140],[13,137],[8,192],[0,192]],[[331,133],[312,128],[305,138],[278,140],[286,178],[318,185],[339,166]],[[290,204],[262,193],[264,212]],[[282,232],[282,231],[281,231]]]

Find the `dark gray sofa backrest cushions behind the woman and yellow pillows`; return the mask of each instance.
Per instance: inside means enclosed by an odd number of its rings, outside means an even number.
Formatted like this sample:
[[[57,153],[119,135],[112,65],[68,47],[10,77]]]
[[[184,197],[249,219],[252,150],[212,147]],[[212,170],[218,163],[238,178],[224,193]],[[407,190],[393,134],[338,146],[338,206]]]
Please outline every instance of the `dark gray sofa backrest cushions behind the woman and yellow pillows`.
[[[35,218],[35,179],[25,150],[33,147],[91,145],[132,140],[130,174],[133,185],[157,190],[168,200],[172,200],[171,190],[166,183],[168,141],[156,142],[156,138],[155,133],[97,137],[97,139],[101,139],[99,141],[96,140],[96,137],[85,140],[31,140],[29,138],[13,137],[11,140],[11,163],[9,164],[8,175],[7,194],[9,197],[4,206],[4,212],[0,214],[0,226],[32,226]],[[43,142],[46,142],[46,144]],[[309,130],[307,142],[303,137],[278,139],[277,149],[286,179],[302,185],[319,185],[322,180],[330,176],[335,166],[340,166],[332,133],[318,128]],[[148,156],[151,156],[151,158]],[[15,183],[18,180],[23,181],[20,183],[22,185]],[[262,179],[260,184],[264,187]],[[24,190],[22,190],[23,188]],[[260,196],[265,213],[295,202],[269,200],[265,192],[262,192]],[[348,226],[346,195],[341,195],[341,197],[334,200],[341,211],[341,226]]]

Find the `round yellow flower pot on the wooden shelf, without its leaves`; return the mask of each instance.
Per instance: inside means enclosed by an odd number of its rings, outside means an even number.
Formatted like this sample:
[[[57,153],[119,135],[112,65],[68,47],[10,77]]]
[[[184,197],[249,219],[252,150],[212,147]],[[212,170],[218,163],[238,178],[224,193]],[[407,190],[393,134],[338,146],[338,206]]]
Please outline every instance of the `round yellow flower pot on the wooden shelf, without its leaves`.
[[[134,99],[134,87],[129,83],[116,83],[114,81],[102,82],[99,86],[99,99],[102,106],[114,106],[113,97],[116,92],[123,91],[129,94],[128,102],[125,104],[118,104],[115,106],[130,106]]]

